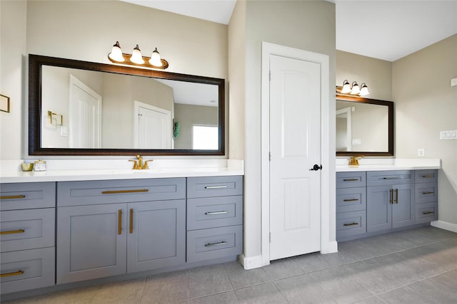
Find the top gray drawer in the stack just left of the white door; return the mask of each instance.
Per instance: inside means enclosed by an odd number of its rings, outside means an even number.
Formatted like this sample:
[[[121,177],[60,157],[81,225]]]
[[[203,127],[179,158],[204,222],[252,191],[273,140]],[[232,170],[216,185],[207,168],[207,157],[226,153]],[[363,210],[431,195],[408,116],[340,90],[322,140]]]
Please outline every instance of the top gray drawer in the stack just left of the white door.
[[[243,177],[188,177],[187,197],[211,197],[243,194]]]

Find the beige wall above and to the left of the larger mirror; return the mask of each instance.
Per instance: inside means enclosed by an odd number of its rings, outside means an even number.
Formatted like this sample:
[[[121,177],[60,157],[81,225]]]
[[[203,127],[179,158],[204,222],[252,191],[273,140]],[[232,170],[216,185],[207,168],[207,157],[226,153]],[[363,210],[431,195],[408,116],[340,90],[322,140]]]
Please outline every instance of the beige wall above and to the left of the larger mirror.
[[[1,114],[1,159],[28,157],[26,56],[110,63],[111,46],[125,53],[139,43],[145,56],[155,47],[170,72],[227,78],[228,26],[122,1],[0,1],[1,93],[14,112]],[[24,57],[25,56],[25,57]],[[18,105],[21,105],[19,108]],[[5,118],[4,118],[5,117]],[[6,125],[9,132],[4,134]]]

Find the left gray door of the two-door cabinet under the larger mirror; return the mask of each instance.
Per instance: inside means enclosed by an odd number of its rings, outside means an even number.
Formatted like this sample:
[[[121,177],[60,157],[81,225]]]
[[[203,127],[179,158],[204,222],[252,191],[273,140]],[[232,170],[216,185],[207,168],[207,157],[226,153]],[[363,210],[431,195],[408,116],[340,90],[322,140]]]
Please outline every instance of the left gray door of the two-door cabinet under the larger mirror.
[[[126,273],[126,204],[57,209],[57,283]]]

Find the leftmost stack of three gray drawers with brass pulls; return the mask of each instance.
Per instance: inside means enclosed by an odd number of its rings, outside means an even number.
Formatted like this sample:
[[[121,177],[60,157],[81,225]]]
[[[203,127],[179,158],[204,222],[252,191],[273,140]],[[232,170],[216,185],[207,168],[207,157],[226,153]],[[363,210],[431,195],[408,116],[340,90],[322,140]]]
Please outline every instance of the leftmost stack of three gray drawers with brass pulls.
[[[1,293],[54,285],[56,184],[1,184]]]

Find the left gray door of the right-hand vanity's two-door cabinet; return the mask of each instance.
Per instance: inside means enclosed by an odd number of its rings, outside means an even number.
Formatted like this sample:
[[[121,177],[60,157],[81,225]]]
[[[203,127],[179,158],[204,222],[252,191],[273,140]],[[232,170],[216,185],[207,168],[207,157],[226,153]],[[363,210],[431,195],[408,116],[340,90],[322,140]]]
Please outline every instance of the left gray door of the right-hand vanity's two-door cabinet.
[[[381,231],[392,228],[391,186],[367,187],[366,231]]]

